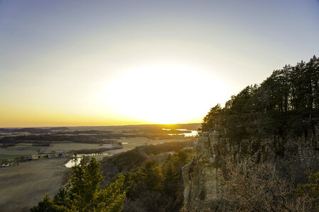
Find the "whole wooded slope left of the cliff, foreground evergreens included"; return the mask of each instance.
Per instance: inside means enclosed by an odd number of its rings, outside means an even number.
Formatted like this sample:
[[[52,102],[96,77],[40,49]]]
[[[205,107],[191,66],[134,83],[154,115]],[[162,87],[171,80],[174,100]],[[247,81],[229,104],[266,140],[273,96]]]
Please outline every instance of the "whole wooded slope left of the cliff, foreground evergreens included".
[[[68,184],[30,211],[179,211],[184,201],[181,167],[193,157],[187,146],[189,141],[141,146],[102,164],[82,158],[72,167]],[[174,153],[159,161],[147,156],[167,151]]]

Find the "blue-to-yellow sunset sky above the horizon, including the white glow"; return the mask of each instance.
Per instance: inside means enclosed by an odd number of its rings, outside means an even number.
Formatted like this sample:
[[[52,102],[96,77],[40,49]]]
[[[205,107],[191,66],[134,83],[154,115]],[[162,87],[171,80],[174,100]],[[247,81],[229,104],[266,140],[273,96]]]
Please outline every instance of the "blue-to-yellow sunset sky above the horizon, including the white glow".
[[[201,122],[318,37],[318,0],[0,0],[0,127]]]

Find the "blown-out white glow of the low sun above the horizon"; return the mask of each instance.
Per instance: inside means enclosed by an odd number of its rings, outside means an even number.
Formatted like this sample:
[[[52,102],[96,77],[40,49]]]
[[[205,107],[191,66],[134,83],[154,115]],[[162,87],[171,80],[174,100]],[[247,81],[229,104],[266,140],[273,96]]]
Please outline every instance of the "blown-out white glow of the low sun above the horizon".
[[[201,121],[201,112],[208,110],[197,101],[203,98],[203,90],[218,86],[217,81],[194,67],[157,64],[119,74],[106,86],[104,103],[122,116],[144,122],[195,122]]]

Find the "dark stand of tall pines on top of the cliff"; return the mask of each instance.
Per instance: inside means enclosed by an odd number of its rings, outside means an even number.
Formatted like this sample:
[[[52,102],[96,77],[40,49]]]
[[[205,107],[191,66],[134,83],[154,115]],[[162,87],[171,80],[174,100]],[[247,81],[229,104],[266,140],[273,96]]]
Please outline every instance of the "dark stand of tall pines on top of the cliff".
[[[316,139],[319,119],[319,58],[276,70],[260,85],[247,86],[225,107],[211,108],[201,131],[233,139],[251,136]]]

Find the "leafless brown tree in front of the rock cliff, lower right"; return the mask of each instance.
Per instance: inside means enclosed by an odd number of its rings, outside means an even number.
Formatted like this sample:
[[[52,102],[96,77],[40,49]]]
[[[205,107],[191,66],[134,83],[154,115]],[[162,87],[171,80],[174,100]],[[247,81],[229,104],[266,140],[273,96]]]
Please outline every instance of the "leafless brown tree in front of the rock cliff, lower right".
[[[219,179],[218,196],[235,211],[305,211],[309,202],[308,196],[296,196],[291,180],[279,175],[270,163],[227,160]]]

